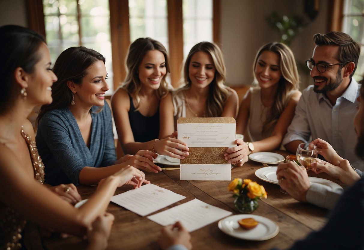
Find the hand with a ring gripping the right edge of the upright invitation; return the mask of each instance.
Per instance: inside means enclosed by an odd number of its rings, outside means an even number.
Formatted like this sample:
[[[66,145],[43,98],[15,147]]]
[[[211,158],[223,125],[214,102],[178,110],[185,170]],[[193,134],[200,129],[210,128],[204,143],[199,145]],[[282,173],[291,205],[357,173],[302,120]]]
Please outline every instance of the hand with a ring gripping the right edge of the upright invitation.
[[[226,149],[224,157],[225,160],[228,160],[227,163],[234,164],[234,167],[241,167],[249,160],[249,148],[243,140],[237,139],[235,140],[235,143],[237,146]]]

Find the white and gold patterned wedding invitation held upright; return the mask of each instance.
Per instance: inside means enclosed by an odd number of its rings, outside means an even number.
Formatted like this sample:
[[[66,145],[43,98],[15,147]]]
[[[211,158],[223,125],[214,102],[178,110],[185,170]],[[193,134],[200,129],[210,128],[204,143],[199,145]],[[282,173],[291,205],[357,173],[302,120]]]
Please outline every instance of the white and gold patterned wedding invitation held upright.
[[[183,117],[177,120],[178,139],[189,147],[181,159],[181,180],[231,180],[226,149],[236,146],[232,117]]]

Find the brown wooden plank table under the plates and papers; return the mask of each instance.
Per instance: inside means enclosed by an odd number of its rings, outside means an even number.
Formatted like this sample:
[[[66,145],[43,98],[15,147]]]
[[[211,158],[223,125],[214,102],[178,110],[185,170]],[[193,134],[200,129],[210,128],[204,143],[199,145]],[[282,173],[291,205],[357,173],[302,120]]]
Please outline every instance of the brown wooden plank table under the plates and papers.
[[[280,151],[280,153],[284,156],[287,155],[286,152]],[[323,227],[327,221],[328,210],[308,203],[297,202],[289,195],[281,193],[279,185],[258,179],[255,176],[255,171],[261,167],[262,164],[249,160],[243,167],[232,169],[232,179],[236,177],[252,179],[264,185],[268,193],[268,199],[260,200],[259,207],[253,214],[275,221],[280,227],[278,235],[272,239],[257,242],[236,239],[220,231],[216,221],[191,233],[194,249],[271,249],[272,247],[286,249],[295,241],[305,238],[312,230],[319,230]],[[340,181],[330,178],[325,173],[316,175],[309,171],[309,175],[329,179],[343,185]],[[155,185],[186,196],[186,199],[155,213],[197,198],[213,206],[231,211],[233,214],[239,214],[234,207],[232,192],[227,191],[227,185],[230,181],[179,180],[179,170],[146,173],[146,179]],[[88,198],[95,189],[96,187],[78,187],[82,199]],[[130,186],[123,186],[118,188],[115,194],[130,189]],[[114,225],[108,241],[108,249],[160,249],[157,238],[162,226],[114,203],[110,203],[107,211],[115,215]],[[72,250],[84,249],[87,241],[79,237],[67,239],[52,237],[45,239],[44,243],[50,250]]]

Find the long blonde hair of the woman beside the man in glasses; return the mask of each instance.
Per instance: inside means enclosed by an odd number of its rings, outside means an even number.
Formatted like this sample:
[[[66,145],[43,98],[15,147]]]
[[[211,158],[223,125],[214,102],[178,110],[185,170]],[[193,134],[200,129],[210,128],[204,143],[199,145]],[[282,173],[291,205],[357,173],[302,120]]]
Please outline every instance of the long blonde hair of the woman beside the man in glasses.
[[[277,122],[283,110],[288,105],[291,95],[295,90],[299,89],[300,84],[300,77],[298,75],[297,65],[292,50],[283,43],[272,42],[262,46],[255,56],[253,64],[254,86],[258,85],[258,81],[255,76],[257,61],[264,51],[272,51],[279,56],[281,78],[278,81],[278,89],[274,95],[271,112],[268,114],[268,117],[263,124],[262,135],[264,135],[268,129]]]

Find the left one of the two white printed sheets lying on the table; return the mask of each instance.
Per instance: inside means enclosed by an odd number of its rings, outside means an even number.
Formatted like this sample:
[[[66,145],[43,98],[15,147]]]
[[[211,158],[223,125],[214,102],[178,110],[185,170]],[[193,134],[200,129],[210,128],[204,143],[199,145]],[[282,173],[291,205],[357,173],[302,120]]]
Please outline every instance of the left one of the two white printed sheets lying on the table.
[[[149,183],[141,188],[114,195],[111,201],[135,214],[146,216],[185,198],[183,195]]]

